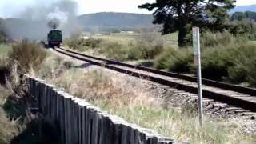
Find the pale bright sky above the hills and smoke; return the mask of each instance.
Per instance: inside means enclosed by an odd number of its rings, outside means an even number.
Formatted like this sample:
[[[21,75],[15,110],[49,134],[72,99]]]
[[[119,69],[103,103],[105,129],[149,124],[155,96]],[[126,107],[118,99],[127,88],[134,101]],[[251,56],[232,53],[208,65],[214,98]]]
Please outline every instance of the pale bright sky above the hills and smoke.
[[[18,15],[27,7],[48,5],[58,0],[0,0],[0,17],[9,18]],[[78,2],[78,14],[97,12],[128,12],[150,14],[147,10],[138,9],[138,5],[155,0],[73,0]],[[237,6],[256,4],[256,0],[237,0]]]

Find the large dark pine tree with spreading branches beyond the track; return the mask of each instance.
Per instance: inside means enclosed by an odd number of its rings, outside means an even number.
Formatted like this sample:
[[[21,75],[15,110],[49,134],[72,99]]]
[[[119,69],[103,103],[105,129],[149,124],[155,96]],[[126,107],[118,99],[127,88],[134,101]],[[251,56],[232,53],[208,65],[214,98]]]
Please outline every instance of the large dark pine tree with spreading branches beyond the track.
[[[156,0],[138,6],[149,11],[154,10],[154,24],[162,24],[162,34],[178,30],[178,45],[186,45],[186,26],[205,27],[208,24],[219,24],[220,14],[227,15],[227,10],[234,7],[235,0]],[[223,13],[224,11],[224,13]],[[207,13],[208,12],[208,13]],[[212,17],[210,17],[212,16]]]

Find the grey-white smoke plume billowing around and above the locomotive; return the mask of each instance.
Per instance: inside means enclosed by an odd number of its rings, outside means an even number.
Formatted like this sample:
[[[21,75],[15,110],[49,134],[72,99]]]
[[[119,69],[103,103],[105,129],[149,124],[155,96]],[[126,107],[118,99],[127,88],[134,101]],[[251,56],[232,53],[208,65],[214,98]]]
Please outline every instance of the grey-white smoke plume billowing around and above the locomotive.
[[[50,30],[62,30],[64,38],[78,32],[78,4],[73,0],[37,1],[18,18],[6,19],[6,34],[13,39],[45,40]],[[47,3],[48,2],[48,3]]]

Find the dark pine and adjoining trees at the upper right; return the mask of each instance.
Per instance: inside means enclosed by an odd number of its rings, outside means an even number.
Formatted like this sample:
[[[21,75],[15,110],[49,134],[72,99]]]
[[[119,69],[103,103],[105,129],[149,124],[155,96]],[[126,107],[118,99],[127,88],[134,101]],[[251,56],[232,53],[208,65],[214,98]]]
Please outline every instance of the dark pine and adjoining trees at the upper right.
[[[245,18],[252,20],[255,13],[235,13],[230,18],[228,12],[234,8],[235,3],[235,0],[158,0],[142,4],[138,8],[153,11],[153,23],[162,25],[162,34],[178,31],[179,46],[190,45],[193,26],[200,27],[202,32],[228,30],[234,36],[244,34],[249,38],[256,38],[254,22],[234,22]]]

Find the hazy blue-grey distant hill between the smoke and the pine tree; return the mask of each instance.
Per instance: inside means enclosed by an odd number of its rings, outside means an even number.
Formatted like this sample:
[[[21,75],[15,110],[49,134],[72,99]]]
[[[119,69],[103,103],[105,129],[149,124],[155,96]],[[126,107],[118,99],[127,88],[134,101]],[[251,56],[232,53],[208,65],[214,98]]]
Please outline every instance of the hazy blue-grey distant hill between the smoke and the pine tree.
[[[78,17],[78,24],[84,30],[96,31],[153,27],[152,21],[152,14],[102,12]]]

